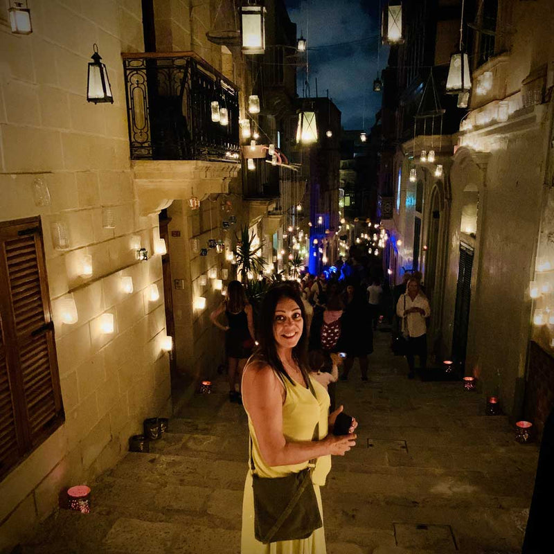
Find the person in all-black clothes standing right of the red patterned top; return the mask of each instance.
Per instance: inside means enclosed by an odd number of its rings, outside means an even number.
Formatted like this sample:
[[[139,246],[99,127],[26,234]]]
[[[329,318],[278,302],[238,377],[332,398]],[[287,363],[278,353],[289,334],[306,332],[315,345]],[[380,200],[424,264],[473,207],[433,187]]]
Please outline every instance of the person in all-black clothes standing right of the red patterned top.
[[[361,380],[368,380],[368,355],[373,352],[373,330],[366,294],[357,285],[347,285],[344,314],[341,317],[341,337],[337,348],[345,352],[341,380],[348,379],[355,358],[359,361]]]

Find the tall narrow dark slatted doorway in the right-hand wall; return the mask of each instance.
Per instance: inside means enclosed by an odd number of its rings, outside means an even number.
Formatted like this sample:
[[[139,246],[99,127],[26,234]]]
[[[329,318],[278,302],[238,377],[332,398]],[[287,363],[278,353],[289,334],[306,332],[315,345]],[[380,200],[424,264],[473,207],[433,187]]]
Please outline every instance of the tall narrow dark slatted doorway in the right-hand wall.
[[[460,244],[460,265],[456,287],[456,310],[452,333],[452,359],[465,373],[465,351],[467,349],[467,328],[470,323],[470,301],[472,292],[472,269],[474,249],[463,242]]]

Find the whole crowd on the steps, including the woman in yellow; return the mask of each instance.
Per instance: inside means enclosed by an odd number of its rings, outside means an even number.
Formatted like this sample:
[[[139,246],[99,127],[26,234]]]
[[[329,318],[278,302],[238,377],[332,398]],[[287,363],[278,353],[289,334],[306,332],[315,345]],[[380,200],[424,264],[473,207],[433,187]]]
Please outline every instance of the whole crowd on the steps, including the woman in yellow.
[[[379,321],[391,324],[392,346],[406,356],[408,377],[416,355],[422,368],[427,363],[431,312],[420,276],[406,274],[391,290],[386,281],[366,278],[356,262],[337,265],[337,271],[269,288],[256,328],[238,280],[211,314],[226,334],[229,400],[244,405],[249,422],[245,554],[325,553],[319,488],[331,456],[355,445],[357,427],[335,405],[337,382],[350,378],[356,359],[361,380],[368,380]]]

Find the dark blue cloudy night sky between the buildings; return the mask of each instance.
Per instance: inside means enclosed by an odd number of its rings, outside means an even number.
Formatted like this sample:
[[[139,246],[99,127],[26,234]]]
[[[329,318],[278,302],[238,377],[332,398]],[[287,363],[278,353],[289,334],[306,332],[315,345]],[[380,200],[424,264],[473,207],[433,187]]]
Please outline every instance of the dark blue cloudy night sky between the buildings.
[[[285,0],[298,36],[307,38],[310,95],[329,96],[342,112],[345,129],[368,131],[381,107],[373,92],[379,66],[386,66],[388,47],[379,40],[379,0]],[[328,46],[332,45],[332,46]],[[305,71],[298,71],[298,95],[303,96]],[[306,95],[308,96],[308,95]]]

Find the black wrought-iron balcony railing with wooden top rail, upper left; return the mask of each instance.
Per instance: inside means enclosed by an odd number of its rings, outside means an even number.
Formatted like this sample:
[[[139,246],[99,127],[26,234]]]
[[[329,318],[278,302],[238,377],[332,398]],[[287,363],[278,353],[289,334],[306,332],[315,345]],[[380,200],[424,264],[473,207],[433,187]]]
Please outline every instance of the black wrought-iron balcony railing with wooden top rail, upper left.
[[[131,159],[230,161],[239,152],[238,89],[194,52],[123,54]],[[211,102],[229,124],[211,119]]]

